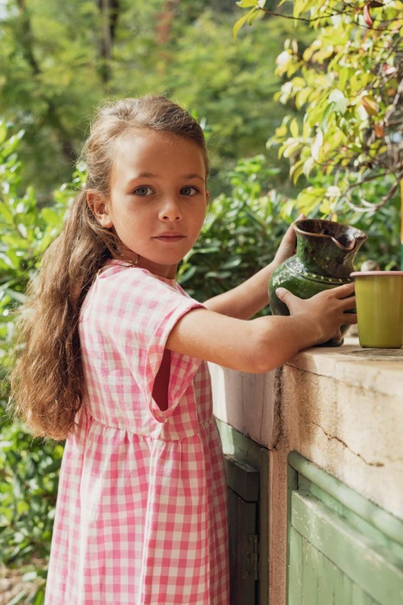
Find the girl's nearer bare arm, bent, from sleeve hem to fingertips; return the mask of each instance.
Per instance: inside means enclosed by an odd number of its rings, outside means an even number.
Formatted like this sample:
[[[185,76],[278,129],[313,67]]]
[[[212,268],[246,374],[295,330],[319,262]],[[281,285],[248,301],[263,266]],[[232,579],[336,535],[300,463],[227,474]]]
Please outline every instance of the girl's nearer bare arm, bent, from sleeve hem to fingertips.
[[[355,307],[353,292],[354,284],[346,284],[301,300],[279,288],[278,297],[289,308],[288,317],[247,321],[196,309],[179,319],[166,347],[234,370],[267,372],[303,349],[340,338],[341,325],[357,323],[355,314],[344,313]]]

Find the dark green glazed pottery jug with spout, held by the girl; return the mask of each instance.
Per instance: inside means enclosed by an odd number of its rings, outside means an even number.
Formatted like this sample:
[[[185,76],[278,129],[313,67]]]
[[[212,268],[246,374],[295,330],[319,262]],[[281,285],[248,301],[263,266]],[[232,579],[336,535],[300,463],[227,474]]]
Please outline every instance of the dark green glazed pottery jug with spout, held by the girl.
[[[350,277],[353,261],[367,239],[359,229],[332,220],[296,220],[294,230],[296,255],[277,267],[269,284],[270,306],[274,315],[289,315],[287,305],[275,295],[277,288],[286,288],[299,298],[310,298],[323,290],[353,281]],[[342,326],[342,335],[347,329],[348,326]],[[342,343],[343,339],[329,340],[325,345],[338,346]]]

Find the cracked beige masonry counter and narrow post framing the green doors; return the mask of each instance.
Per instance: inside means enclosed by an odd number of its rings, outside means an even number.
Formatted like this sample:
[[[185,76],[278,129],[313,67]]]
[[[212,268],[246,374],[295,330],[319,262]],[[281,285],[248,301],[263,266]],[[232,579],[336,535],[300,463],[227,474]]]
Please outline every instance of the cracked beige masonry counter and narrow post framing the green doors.
[[[270,451],[270,603],[285,605],[290,451],[403,519],[402,370],[402,350],[352,339],[262,375],[211,366],[217,418]]]

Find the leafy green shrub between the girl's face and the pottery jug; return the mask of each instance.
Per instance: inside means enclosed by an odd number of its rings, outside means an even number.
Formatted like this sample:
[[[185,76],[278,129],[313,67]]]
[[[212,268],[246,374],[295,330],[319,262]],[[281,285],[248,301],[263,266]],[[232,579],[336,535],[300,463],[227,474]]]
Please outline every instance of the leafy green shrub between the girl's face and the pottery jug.
[[[231,191],[212,201],[202,234],[179,268],[178,281],[194,298],[226,292],[273,260],[292,222],[292,206],[273,189],[277,172],[259,155],[238,161],[228,174]]]

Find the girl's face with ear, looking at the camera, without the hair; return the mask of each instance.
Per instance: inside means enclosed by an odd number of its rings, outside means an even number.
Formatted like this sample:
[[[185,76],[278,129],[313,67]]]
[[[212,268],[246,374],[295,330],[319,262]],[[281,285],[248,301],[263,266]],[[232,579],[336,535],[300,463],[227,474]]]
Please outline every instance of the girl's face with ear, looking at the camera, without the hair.
[[[209,193],[203,154],[169,133],[136,130],[116,145],[109,197],[88,201],[113,228],[138,266],[175,277],[177,264],[200,233]]]

